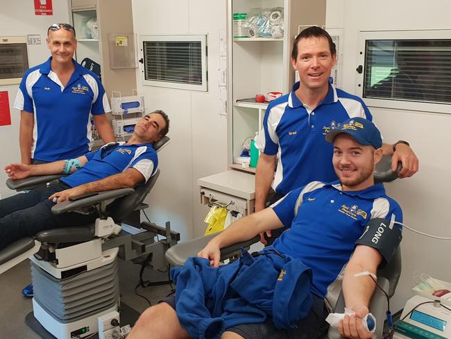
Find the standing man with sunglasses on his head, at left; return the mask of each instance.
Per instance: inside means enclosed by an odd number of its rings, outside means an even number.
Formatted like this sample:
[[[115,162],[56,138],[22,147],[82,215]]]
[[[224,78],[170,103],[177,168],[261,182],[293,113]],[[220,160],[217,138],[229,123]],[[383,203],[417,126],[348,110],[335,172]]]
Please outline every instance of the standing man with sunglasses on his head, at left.
[[[76,158],[90,151],[91,117],[103,142],[114,141],[103,85],[73,59],[74,27],[53,24],[47,35],[51,57],[26,71],[14,103],[21,111],[19,141],[25,164]]]

